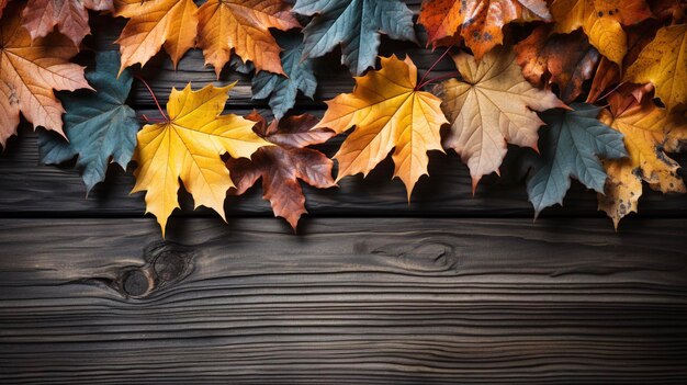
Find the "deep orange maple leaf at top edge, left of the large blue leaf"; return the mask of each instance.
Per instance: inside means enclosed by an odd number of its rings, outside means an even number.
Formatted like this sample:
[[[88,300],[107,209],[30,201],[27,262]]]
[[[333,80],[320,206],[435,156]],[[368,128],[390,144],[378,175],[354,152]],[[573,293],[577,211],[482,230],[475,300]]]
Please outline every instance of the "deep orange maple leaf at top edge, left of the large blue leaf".
[[[201,5],[199,19],[198,46],[217,77],[232,49],[244,61],[252,61],[258,71],[283,75],[281,48],[269,29],[301,26],[282,0],[210,0]]]

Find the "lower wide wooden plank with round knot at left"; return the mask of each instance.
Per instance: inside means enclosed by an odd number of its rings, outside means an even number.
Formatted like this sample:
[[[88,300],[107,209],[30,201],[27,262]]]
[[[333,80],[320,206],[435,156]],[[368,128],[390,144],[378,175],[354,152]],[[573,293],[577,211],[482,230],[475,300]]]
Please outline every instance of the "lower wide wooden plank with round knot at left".
[[[684,384],[686,227],[2,219],[0,383]]]

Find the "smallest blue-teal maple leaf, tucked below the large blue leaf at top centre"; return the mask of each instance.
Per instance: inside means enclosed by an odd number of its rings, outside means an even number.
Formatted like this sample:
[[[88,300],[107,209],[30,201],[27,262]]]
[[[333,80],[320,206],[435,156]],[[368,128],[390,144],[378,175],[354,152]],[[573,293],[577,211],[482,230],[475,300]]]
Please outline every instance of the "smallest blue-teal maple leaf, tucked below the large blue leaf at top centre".
[[[269,105],[277,120],[293,107],[299,90],[313,99],[317,89],[317,79],[313,71],[313,60],[301,61],[303,39],[301,35],[280,35],[277,41],[284,49],[281,53],[283,75],[261,71],[252,78],[252,99],[269,98]]]

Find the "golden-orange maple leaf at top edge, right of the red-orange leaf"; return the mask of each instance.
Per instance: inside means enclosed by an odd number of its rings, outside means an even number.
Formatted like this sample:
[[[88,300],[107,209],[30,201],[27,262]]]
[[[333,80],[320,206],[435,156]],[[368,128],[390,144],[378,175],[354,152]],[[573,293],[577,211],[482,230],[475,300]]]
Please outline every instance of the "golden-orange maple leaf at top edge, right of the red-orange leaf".
[[[554,0],[551,13],[553,32],[571,33],[579,27],[589,43],[611,61],[621,65],[627,53],[622,25],[651,18],[644,0]]]

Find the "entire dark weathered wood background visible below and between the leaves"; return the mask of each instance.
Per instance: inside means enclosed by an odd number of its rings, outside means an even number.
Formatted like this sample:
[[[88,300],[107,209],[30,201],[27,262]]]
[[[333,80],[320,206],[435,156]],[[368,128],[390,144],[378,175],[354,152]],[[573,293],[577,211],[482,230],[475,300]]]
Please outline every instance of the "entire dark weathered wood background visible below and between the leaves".
[[[87,45],[116,49],[124,21],[93,19]],[[420,69],[438,57],[382,47]],[[300,112],[350,92],[337,55]],[[264,112],[229,72],[227,111]],[[215,80],[199,52],[142,76],[162,102]],[[131,104],[157,116],[151,102],[137,83]],[[533,222],[509,165],[472,196],[455,154],[433,154],[408,204],[387,160],[306,188],[299,235],[259,190],[227,200],[228,225],[182,193],[162,241],[131,174],[113,167],[85,196],[23,124],[0,157],[0,383],[686,384],[687,197],[647,193],[616,234],[576,184]]]

